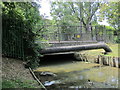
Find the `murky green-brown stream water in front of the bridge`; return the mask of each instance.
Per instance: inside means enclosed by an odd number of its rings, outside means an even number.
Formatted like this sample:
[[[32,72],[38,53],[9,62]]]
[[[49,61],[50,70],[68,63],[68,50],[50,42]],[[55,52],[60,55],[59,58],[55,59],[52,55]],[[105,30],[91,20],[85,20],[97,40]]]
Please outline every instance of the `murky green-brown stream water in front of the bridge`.
[[[120,79],[118,77],[119,68],[80,61],[45,65],[35,71],[52,72],[57,75],[40,76],[37,74],[41,82],[48,88],[118,88]]]

